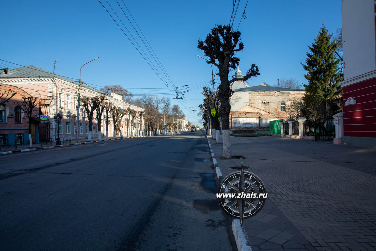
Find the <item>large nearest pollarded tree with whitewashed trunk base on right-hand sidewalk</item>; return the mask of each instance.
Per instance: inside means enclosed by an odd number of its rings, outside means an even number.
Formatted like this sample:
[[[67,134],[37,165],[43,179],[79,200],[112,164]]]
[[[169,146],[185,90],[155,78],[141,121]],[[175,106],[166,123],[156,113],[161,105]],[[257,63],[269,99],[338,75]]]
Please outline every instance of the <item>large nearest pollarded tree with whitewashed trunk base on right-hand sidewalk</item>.
[[[235,81],[229,81],[229,69],[235,69],[239,65],[240,59],[235,56],[235,52],[241,51],[244,48],[240,41],[240,31],[233,31],[229,25],[217,25],[206,36],[205,41],[199,40],[197,48],[203,50],[204,55],[208,57],[208,64],[213,64],[218,67],[219,78],[221,84],[219,86],[218,95],[221,102],[219,109],[219,116],[222,119],[222,133],[223,133],[223,157],[230,158],[230,84]],[[247,71],[243,81],[260,75],[258,67],[252,64]]]

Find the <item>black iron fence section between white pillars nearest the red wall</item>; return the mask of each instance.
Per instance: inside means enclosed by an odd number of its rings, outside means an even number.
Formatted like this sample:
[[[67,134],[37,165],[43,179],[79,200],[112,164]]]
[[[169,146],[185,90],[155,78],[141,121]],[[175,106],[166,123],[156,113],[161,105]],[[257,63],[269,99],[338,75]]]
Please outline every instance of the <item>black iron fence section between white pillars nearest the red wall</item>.
[[[332,140],[335,138],[334,119],[316,119],[303,122],[306,136],[315,136],[315,140]]]

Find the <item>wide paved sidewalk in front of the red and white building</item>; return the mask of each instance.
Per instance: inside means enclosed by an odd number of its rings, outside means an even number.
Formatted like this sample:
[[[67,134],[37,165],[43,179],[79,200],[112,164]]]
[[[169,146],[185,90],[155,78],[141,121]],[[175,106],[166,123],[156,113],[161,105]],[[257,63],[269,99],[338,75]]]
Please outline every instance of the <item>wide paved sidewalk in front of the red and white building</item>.
[[[209,136],[210,137],[210,136]],[[223,177],[243,163],[264,182],[268,199],[244,220],[253,251],[376,250],[376,149],[275,136],[230,137]]]

